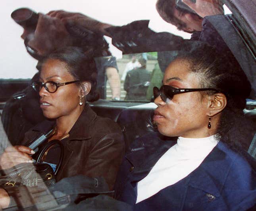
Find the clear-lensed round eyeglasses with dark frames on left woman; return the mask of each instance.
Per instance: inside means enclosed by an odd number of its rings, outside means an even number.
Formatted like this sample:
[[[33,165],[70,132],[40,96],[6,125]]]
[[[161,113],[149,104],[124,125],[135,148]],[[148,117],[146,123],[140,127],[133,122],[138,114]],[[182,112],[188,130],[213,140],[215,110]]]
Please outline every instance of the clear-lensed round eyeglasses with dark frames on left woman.
[[[54,92],[57,91],[59,86],[65,86],[67,84],[73,84],[73,83],[77,83],[77,82],[79,82],[79,81],[69,81],[69,82],[65,82],[65,83],[56,83],[56,82],[53,82],[53,81],[46,81],[44,83],[44,82],[41,82],[41,81],[35,81],[35,82],[32,82],[31,86],[36,92],[39,92],[41,90],[41,88],[44,86],[44,88],[48,92],[54,93]]]

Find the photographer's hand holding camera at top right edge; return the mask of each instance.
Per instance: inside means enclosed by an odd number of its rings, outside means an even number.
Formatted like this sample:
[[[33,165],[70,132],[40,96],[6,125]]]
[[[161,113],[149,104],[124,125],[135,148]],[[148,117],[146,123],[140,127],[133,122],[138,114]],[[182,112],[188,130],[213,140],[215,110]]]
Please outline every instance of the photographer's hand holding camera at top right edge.
[[[191,2],[191,0],[182,0],[182,2],[187,4],[187,6],[201,17],[224,14],[220,0],[196,0],[196,3]]]

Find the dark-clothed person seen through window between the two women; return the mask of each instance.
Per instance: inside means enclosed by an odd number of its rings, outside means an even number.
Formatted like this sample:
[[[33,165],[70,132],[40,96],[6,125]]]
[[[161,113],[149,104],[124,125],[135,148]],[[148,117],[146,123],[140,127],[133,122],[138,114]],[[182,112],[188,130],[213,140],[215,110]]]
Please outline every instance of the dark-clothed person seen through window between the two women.
[[[146,70],[146,59],[139,58],[141,67],[129,71],[125,78],[125,100],[146,100],[146,92],[150,81],[150,73]]]

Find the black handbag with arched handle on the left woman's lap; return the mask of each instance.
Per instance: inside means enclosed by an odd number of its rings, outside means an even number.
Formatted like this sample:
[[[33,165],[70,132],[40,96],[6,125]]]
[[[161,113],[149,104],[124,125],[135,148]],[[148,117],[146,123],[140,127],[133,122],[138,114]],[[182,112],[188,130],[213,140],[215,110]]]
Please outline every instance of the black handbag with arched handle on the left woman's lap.
[[[58,144],[61,149],[60,159],[53,172],[47,163],[40,163],[42,156],[51,146]],[[21,163],[10,169],[0,170],[0,186],[50,187],[56,183],[56,175],[62,165],[64,146],[59,140],[52,140],[40,151],[36,163]]]

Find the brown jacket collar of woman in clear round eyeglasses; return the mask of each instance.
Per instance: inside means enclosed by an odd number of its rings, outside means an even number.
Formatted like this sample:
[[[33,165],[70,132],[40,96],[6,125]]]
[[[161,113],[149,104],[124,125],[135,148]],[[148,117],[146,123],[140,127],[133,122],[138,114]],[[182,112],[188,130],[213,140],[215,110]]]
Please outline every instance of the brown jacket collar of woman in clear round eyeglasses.
[[[77,121],[69,132],[69,137],[66,140],[85,140],[91,138],[91,126],[92,121],[96,119],[96,113],[92,111],[89,104],[85,104],[85,107],[78,117]],[[52,127],[54,127],[55,121],[45,120],[42,123],[36,125],[33,130],[37,132],[47,133]]]

